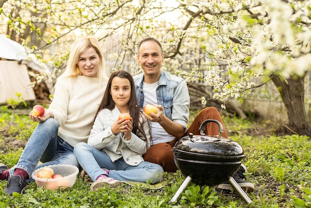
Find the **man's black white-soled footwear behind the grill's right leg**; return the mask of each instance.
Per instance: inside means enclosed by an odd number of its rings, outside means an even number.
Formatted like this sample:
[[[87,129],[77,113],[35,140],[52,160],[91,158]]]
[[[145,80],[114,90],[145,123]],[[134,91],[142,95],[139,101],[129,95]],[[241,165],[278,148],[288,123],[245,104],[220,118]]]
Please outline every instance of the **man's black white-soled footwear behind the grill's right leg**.
[[[252,183],[246,181],[246,177],[239,170],[236,173],[234,173],[233,179],[244,190],[244,192],[247,193],[254,191],[255,186]],[[225,190],[233,190],[232,186],[228,181],[218,185],[218,188]]]

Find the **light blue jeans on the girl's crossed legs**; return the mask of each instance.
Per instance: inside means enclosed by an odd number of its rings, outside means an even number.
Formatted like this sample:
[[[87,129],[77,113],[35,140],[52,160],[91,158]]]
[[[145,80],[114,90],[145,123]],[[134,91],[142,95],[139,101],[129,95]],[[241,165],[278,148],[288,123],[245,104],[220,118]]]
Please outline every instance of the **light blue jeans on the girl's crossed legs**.
[[[151,162],[140,162],[138,166],[127,164],[123,157],[112,162],[110,157],[101,150],[98,150],[86,143],[78,143],[74,153],[79,164],[87,175],[96,181],[100,175],[108,174],[101,168],[109,170],[109,177],[119,181],[151,182],[152,184],[161,181],[163,169],[160,165]]]

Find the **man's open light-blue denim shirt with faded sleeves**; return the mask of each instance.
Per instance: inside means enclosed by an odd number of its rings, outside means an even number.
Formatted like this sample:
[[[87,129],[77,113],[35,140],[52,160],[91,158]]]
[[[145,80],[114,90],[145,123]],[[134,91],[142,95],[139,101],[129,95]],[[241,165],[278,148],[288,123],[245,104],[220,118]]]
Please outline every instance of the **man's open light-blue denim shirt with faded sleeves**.
[[[134,82],[138,103],[143,107],[144,73],[134,76]],[[156,88],[156,99],[157,104],[163,106],[166,117],[180,123],[184,129],[187,128],[190,97],[188,87],[182,78],[161,70],[159,84]]]

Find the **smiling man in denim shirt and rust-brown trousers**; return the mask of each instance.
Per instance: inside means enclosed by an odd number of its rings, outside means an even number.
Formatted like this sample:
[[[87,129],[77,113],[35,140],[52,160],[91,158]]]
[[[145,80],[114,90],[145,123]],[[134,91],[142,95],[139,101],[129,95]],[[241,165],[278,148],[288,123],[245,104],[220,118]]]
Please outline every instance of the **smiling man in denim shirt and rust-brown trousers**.
[[[159,164],[166,172],[176,172],[172,147],[177,140],[189,133],[200,135],[199,127],[206,119],[223,120],[215,107],[206,107],[199,112],[187,129],[189,119],[190,97],[186,82],[181,78],[161,70],[164,54],[158,40],[149,37],[138,45],[137,61],[144,73],[134,77],[135,90],[140,106],[153,104],[157,113],[150,115],[144,112],[151,121],[151,147],[144,155],[145,161]],[[218,125],[208,123],[205,126],[206,135],[218,135]],[[223,137],[228,137],[224,128]],[[241,175],[243,175],[241,173]],[[234,180],[242,187],[253,190],[254,185],[245,180],[245,177],[236,175]],[[230,184],[228,189],[231,188]]]

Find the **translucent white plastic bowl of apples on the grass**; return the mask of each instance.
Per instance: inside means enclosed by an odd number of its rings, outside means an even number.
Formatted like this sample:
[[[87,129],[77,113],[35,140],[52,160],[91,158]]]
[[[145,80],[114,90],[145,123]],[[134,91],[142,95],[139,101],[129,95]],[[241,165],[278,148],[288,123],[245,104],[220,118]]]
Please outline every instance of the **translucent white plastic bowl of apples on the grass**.
[[[74,186],[79,169],[73,165],[49,165],[35,170],[31,178],[38,187],[57,190]]]

